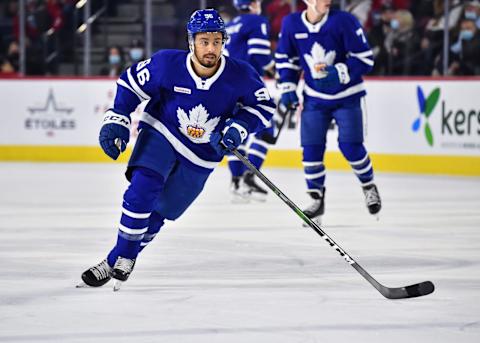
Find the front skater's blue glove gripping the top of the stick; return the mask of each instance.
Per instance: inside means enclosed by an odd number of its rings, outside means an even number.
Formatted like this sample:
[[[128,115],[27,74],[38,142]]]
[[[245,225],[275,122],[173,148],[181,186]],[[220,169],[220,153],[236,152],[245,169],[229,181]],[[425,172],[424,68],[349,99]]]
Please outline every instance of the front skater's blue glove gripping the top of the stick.
[[[223,135],[214,132],[210,136],[210,145],[217,154],[225,155],[229,150],[236,149],[243,143],[248,136],[247,123],[241,120],[229,119],[225,123]]]

